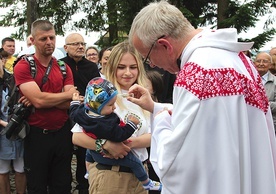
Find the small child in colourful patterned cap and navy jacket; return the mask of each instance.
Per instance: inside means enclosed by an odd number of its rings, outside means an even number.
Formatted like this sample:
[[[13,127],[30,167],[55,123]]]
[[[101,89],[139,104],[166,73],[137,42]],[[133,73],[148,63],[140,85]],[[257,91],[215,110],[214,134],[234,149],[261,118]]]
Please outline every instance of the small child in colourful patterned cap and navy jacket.
[[[78,93],[73,95],[70,117],[94,139],[126,141],[138,128],[139,121],[133,116],[128,117],[126,124],[120,121],[114,113],[117,93],[117,89],[109,81],[100,77],[92,79],[86,87],[83,104],[80,103]],[[149,179],[142,162],[132,152],[122,159],[110,159],[102,156],[104,150],[97,151],[100,153],[90,150],[96,162],[129,167],[146,190],[161,190],[162,184]]]

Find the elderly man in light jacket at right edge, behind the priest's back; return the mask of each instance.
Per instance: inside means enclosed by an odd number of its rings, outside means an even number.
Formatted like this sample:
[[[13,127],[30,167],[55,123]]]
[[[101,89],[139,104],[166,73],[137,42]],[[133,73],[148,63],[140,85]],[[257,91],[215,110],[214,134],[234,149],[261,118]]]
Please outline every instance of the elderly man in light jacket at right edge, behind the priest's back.
[[[272,112],[274,129],[276,129],[276,76],[269,71],[272,57],[266,52],[260,52],[256,55],[254,65],[262,78]]]

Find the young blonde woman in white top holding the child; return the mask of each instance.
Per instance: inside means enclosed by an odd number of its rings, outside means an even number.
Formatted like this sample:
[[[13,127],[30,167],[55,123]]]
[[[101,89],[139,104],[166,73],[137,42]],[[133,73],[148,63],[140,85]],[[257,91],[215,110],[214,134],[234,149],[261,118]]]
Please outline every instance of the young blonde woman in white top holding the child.
[[[106,79],[118,90],[115,113],[126,123],[128,116],[135,116],[139,122],[139,130],[136,130],[127,142],[98,141],[97,148],[105,149],[115,159],[123,158],[132,150],[143,161],[147,170],[148,153],[146,148],[150,146],[150,117],[147,111],[127,101],[123,95],[128,93],[128,88],[137,83],[146,86],[146,74],[141,56],[136,49],[129,45],[128,41],[121,42],[112,48],[106,69]],[[99,129],[100,130],[100,129]],[[83,133],[82,129],[75,126],[73,129],[73,143],[96,150],[95,140]],[[148,193],[142,183],[136,178],[130,168],[124,166],[111,166],[94,162],[89,166],[89,193],[113,194],[113,193]],[[91,175],[91,176],[90,176]]]

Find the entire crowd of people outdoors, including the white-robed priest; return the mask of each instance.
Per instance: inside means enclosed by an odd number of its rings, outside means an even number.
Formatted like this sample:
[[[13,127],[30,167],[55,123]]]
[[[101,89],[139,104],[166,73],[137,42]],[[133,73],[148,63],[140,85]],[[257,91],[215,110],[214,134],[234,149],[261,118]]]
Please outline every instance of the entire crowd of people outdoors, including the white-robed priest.
[[[64,55],[40,19],[26,42],[0,49],[1,194],[11,170],[20,194],[276,193],[276,47],[252,56],[236,29],[195,29],[164,0],[113,47],[75,32]],[[31,113],[12,140],[15,87]]]

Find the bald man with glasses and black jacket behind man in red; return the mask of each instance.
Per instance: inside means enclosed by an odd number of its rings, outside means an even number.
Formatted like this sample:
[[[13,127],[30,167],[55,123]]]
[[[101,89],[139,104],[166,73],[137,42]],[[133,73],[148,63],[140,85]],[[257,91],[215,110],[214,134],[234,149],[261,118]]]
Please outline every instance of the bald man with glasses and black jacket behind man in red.
[[[84,38],[79,33],[69,34],[65,38],[64,49],[67,52],[66,57],[61,60],[69,65],[74,76],[74,85],[77,87],[81,96],[85,94],[85,88],[88,82],[99,77],[99,70],[95,63],[89,61],[84,57],[86,43]],[[86,149],[80,146],[75,146],[75,155],[77,159],[76,168],[76,181],[77,186],[75,189],[79,191],[79,194],[88,193],[88,181],[84,178],[86,174],[85,166],[85,153]]]

